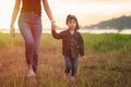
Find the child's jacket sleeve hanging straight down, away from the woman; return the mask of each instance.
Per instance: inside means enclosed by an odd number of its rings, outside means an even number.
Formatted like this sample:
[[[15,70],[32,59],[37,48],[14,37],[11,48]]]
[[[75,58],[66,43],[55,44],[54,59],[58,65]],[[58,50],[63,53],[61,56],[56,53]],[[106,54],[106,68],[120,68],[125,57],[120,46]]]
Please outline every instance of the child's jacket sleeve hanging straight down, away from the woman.
[[[84,55],[85,54],[85,49],[84,49],[84,40],[82,38],[82,35],[79,34],[79,51],[80,51],[80,55]]]

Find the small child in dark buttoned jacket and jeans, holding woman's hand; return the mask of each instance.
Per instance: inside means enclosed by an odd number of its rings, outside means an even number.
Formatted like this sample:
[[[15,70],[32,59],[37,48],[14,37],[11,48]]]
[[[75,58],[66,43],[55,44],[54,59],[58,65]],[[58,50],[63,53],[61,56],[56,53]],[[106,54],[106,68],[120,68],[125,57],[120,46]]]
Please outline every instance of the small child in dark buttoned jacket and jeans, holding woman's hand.
[[[56,27],[52,26],[51,33],[56,39],[62,39],[62,54],[66,60],[66,76],[70,75],[74,80],[76,77],[78,59],[79,54],[84,55],[84,41],[82,35],[78,32],[79,23],[74,15],[67,16],[68,29],[61,33],[56,32]]]

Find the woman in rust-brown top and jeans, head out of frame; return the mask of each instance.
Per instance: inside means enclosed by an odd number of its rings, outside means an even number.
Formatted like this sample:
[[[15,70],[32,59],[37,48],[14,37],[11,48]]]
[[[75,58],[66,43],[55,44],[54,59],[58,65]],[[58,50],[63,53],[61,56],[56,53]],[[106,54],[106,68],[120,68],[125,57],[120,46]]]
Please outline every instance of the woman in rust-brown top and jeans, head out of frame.
[[[36,76],[38,63],[38,49],[41,37],[41,2],[52,26],[55,20],[48,0],[15,0],[11,20],[10,33],[15,34],[14,22],[19,16],[19,28],[25,41],[25,57],[29,72],[28,76]],[[22,9],[20,11],[22,3]]]

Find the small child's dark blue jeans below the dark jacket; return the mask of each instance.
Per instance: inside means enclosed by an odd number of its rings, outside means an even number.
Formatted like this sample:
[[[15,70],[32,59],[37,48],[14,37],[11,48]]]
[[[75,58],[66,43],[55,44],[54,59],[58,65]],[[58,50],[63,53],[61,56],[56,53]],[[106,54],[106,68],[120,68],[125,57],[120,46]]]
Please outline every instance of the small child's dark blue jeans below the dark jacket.
[[[71,72],[72,76],[76,76],[76,70],[78,70],[78,58],[70,58],[69,55],[64,55],[66,61],[66,74],[69,74]]]

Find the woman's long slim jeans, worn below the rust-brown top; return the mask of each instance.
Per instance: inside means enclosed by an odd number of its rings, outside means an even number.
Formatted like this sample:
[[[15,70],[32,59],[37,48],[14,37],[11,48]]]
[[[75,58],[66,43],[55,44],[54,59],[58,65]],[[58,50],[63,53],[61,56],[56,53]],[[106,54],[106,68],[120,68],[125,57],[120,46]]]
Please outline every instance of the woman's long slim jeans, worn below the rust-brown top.
[[[41,36],[41,18],[35,12],[24,12],[19,17],[19,28],[25,41],[26,63],[37,70]]]

